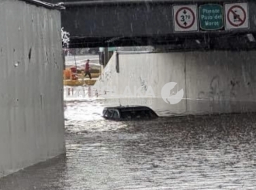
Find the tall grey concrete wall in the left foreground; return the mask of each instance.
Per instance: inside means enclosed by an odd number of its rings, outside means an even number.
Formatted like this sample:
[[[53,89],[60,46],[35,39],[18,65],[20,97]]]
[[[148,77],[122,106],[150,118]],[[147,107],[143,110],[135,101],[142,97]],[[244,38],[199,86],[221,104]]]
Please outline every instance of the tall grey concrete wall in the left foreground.
[[[0,1],[0,177],[64,153],[61,13]]]

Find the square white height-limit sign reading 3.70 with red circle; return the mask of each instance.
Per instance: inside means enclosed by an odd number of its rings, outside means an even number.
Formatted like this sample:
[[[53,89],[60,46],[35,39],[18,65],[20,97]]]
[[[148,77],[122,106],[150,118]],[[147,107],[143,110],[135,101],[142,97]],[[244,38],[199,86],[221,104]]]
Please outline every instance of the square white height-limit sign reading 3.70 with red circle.
[[[198,14],[196,5],[173,6],[174,31],[198,31]]]

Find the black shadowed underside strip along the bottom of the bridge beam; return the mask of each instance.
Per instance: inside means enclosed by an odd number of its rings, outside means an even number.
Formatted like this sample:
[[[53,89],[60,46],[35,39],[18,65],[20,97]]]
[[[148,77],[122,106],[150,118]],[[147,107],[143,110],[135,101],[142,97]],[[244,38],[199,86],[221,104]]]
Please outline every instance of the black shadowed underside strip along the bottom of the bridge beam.
[[[70,48],[106,47],[106,46],[168,46],[168,49],[256,49],[256,43],[251,42],[247,32],[222,35],[187,35],[187,36],[134,36],[112,38],[71,37]],[[256,33],[252,33],[256,36]]]

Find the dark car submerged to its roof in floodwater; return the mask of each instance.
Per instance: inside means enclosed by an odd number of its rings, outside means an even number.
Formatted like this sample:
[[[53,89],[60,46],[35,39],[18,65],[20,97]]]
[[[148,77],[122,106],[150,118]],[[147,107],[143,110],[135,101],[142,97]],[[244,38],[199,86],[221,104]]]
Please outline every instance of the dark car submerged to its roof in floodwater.
[[[154,110],[142,106],[106,107],[102,116],[108,120],[149,120],[158,117]]]

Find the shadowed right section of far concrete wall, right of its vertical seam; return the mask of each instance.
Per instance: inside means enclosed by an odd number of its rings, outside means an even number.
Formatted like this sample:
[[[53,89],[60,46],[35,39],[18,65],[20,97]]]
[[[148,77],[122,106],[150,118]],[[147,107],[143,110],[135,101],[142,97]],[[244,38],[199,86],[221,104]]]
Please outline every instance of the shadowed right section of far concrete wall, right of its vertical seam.
[[[186,53],[185,59],[189,112],[256,110],[256,52]]]

